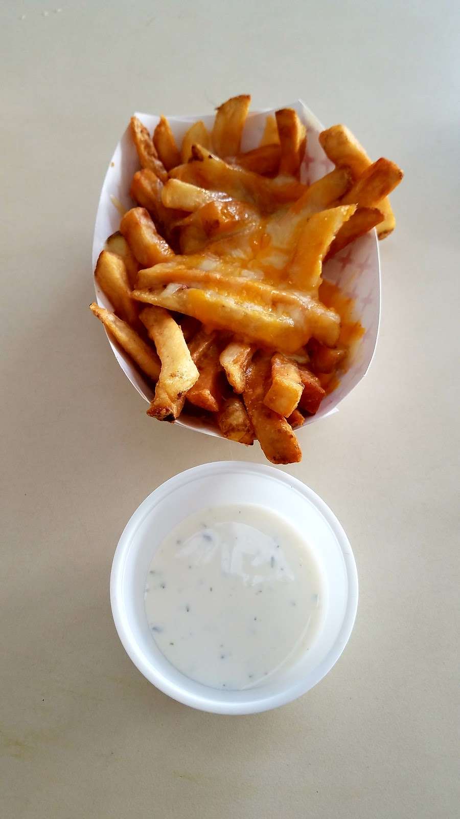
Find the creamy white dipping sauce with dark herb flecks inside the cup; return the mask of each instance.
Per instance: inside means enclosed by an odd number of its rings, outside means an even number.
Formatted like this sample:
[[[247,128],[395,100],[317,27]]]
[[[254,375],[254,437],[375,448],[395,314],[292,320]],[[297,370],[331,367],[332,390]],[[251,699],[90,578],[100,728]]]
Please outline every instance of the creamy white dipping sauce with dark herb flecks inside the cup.
[[[267,681],[312,645],[322,622],[309,546],[285,518],[252,504],[179,523],[156,550],[144,596],[161,652],[213,688]]]

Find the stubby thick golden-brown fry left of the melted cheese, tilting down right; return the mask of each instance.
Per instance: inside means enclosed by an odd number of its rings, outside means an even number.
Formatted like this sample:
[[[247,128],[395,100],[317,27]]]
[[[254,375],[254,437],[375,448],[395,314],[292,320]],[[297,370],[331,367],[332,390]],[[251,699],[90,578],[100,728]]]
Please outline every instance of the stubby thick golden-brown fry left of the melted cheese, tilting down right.
[[[133,207],[128,210],[121,219],[120,232],[129,243],[136,259],[145,267],[167,261],[174,256],[168,242],[157,233],[146,208]]]

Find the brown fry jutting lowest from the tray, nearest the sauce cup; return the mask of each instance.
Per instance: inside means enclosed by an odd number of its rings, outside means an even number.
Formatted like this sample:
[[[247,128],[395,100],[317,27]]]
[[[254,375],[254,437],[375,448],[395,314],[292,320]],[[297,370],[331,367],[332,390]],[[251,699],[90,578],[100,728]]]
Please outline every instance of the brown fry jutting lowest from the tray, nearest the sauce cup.
[[[295,464],[302,458],[299,443],[282,415],[264,404],[271,372],[270,356],[259,354],[248,369],[243,400],[265,456],[272,464]]]

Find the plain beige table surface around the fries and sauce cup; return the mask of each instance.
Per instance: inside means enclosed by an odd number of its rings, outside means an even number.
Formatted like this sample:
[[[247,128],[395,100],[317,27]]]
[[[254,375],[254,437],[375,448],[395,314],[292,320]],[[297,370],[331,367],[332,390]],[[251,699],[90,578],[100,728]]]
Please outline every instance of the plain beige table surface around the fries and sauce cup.
[[[458,13],[445,2],[10,2],[2,70],[4,819],[456,814]],[[131,7],[135,7],[132,9]],[[301,433],[343,523],[359,614],[272,713],[175,703],[124,653],[110,563],[143,498],[245,450],[152,422],[88,310],[92,225],[134,110],[303,97],[398,161],[368,377]]]

